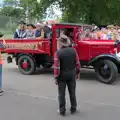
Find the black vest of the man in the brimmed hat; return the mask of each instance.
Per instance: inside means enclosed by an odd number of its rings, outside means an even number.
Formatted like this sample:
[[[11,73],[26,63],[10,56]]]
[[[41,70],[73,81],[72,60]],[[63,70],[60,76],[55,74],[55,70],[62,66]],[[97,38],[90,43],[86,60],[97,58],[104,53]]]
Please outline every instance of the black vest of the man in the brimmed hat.
[[[75,76],[76,52],[74,48],[63,47],[57,51],[60,60],[60,80],[70,80]]]

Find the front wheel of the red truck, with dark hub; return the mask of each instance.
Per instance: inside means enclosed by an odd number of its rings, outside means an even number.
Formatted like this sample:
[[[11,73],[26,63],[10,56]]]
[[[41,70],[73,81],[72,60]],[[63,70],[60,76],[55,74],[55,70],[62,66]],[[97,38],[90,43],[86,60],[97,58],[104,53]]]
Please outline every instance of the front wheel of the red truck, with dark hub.
[[[110,60],[101,60],[95,66],[95,72],[100,82],[112,84],[118,75],[117,66]]]

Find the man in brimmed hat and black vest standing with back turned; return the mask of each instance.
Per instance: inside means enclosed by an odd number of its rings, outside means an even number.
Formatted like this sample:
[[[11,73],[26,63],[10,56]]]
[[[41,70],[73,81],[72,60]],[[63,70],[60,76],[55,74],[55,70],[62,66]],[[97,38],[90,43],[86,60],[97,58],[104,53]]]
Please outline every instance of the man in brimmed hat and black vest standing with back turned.
[[[76,77],[80,73],[80,62],[76,50],[70,46],[70,40],[67,36],[62,35],[59,39],[60,49],[55,53],[54,57],[54,77],[55,83],[58,85],[59,94],[59,113],[65,115],[66,102],[65,91],[68,87],[70,102],[71,102],[71,114],[77,111],[76,101]]]

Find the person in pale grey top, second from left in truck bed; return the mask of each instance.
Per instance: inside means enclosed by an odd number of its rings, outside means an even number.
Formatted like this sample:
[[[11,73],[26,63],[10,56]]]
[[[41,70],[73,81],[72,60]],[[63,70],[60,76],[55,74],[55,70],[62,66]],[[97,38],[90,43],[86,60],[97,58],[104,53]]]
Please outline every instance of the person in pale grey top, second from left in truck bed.
[[[35,26],[33,24],[28,24],[27,25],[27,30],[26,30],[26,38],[27,39],[33,39],[35,38]]]

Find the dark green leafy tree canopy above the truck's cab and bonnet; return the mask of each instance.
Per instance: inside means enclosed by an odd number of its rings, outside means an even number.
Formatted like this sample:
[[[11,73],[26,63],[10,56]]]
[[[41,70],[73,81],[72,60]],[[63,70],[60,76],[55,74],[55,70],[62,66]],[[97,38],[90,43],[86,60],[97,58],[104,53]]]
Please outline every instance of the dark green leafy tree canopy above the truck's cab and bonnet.
[[[120,0],[43,0],[48,7],[57,4],[67,22],[120,24]]]

